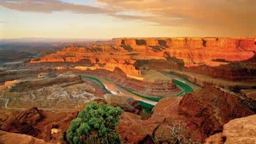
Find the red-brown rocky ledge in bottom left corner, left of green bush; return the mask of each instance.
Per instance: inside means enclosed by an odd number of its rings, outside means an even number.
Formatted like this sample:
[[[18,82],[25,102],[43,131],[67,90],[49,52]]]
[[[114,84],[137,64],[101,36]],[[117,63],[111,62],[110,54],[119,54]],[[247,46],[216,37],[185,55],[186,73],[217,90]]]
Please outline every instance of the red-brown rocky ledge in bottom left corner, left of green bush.
[[[62,143],[62,132],[77,115],[78,111],[43,111],[37,107],[1,109],[0,143]]]

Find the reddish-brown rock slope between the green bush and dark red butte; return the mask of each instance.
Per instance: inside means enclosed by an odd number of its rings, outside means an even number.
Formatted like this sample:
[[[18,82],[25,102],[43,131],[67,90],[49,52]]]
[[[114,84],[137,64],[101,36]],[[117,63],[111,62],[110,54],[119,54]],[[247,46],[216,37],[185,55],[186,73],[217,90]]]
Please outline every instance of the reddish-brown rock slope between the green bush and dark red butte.
[[[184,117],[179,115],[180,98],[163,98],[154,107],[154,113],[147,120],[141,120],[141,117],[125,112],[119,121],[116,130],[124,143],[140,143],[148,135],[155,136],[158,139],[169,139],[168,125],[173,121],[183,121]],[[162,136],[165,135],[165,138]]]

